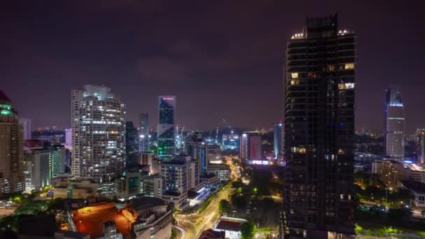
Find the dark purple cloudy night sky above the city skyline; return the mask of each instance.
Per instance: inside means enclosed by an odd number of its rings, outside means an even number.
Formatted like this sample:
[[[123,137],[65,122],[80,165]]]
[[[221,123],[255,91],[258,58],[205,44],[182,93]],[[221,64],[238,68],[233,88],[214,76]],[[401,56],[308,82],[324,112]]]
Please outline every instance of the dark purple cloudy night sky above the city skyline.
[[[357,34],[356,126],[382,130],[384,89],[399,85],[406,133],[425,128],[420,1],[2,1],[0,89],[33,126],[70,127],[71,89],[106,85],[127,119],[177,96],[189,129],[270,128],[282,115],[287,39],[306,16],[338,12]],[[391,5],[392,4],[392,5]],[[138,126],[138,124],[136,124]]]

